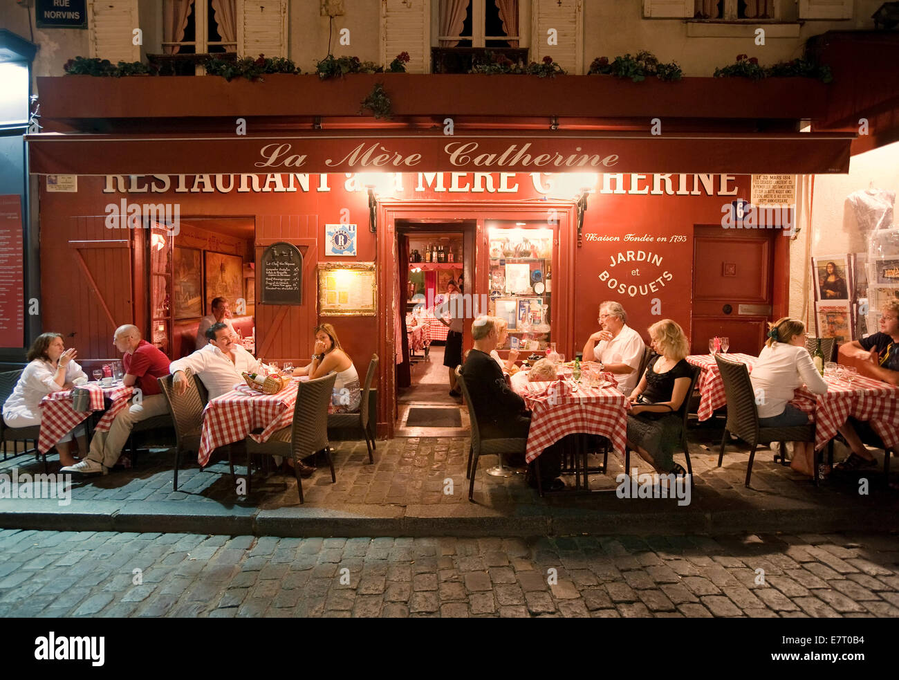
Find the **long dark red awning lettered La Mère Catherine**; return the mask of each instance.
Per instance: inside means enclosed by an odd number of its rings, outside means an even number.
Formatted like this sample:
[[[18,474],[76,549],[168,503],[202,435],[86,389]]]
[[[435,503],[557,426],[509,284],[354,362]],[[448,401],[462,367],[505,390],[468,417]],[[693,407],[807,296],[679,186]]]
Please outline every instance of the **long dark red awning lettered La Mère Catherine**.
[[[328,131],[268,137],[29,135],[33,174],[848,173],[854,134]]]

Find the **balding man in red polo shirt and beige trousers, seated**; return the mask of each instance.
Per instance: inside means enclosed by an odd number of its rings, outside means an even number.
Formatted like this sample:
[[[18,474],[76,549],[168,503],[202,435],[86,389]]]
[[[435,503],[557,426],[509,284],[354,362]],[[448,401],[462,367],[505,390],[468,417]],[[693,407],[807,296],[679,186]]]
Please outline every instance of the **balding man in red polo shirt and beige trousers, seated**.
[[[136,394],[129,401],[128,407],[122,408],[115,416],[108,433],[98,432],[93,435],[87,457],[75,465],[62,468],[60,472],[107,474],[119,461],[134,424],[168,413],[168,404],[156,381],[157,378],[168,375],[168,357],[158,347],[142,339],[138,327],[131,324],[116,328],[112,343],[123,353],[121,363],[125,369],[125,377],[121,381],[125,385],[134,386]]]

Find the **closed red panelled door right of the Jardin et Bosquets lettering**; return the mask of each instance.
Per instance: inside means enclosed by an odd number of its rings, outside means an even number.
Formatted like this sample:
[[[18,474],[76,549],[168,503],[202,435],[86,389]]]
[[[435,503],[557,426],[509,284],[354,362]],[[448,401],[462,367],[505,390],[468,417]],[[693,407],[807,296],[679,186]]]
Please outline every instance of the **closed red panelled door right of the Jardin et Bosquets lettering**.
[[[730,352],[761,351],[774,297],[774,238],[780,233],[696,227],[690,353],[707,353],[714,336],[729,337]]]

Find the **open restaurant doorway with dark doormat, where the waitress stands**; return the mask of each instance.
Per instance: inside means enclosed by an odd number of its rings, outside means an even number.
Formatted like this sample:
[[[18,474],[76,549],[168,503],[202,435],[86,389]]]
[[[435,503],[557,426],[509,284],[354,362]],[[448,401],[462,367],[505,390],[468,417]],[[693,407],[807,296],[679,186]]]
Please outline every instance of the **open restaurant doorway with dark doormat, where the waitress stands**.
[[[472,271],[476,220],[397,220],[403,362],[396,366],[397,434],[435,436],[467,429],[449,364],[461,362],[462,319],[444,302],[464,293]],[[452,388],[455,387],[455,392]]]

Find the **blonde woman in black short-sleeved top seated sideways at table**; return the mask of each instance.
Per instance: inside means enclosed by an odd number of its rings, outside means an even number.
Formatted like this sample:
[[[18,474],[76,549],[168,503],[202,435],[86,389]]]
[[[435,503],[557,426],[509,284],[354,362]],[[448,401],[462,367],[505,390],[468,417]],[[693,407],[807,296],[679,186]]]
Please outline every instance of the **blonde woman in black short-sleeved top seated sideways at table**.
[[[683,328],[670,318],[649,327],[649,336],[655,354],[629,397],[628,446],[655,470],[685,475],[672,455],[681,441],[683,423],[676,412],[690,390],[691,369],[684,358],[690,344]]]

